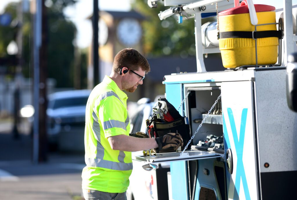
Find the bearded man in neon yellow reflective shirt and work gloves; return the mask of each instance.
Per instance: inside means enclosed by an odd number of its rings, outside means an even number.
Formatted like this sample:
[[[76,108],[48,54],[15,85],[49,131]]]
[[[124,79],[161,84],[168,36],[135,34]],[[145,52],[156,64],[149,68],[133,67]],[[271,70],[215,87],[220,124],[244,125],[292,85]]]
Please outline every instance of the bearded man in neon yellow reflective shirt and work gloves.
[[[150,71],[148,61],[132,48],[123,49],[114,59],[110,76],[91,92],[86,106],[85,161],[82,188],[85,199],[125,200],[132,172],[131,152],[182,146],[178,133],[147,138],[144,133],[129,136],[127,95],[143,84]],[[140,137],[140,138],[139,138]]]

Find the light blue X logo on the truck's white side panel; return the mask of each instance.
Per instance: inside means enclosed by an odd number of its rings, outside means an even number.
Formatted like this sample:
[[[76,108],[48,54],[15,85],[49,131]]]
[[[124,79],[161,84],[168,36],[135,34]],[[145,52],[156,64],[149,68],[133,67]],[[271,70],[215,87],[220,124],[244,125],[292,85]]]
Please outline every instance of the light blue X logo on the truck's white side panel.
[[[247,123],[247,108],[242,109],[239,140],[238,140],[238,135],[237,135],[237,131],[236,131],[235,120],[234,120],[232,109],[227,108],[227,113],[228,113],[228,117],[229,117],[229,121],[230,121],[235,151],[236,151],[236,155],[237,155],[236,178],[235,178],[235,183],[234,183],[235,188],[234,188],[233,199],[235,199],[235,200],[239,199],[240,178],[241,178],[243,188],[244,188],[245,199],[250,200],[251,198],[249,196],[249,188],[247,186],[247,177],[245,176],[244,165],[243,165],[243,161],[242,161],[245,126]],[[224,138],[227,143],[227,147],[230,148],[231,147],[230,140],[229,140],[229,136],[228,136],[228,132],[227,132],[224,115],[223,115],[223,132],[224,132]]]

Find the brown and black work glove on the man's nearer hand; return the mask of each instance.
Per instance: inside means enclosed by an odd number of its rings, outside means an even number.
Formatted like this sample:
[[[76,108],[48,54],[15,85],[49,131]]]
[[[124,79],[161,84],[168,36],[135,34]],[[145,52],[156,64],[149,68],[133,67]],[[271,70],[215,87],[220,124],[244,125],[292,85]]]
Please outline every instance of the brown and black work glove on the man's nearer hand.
[[[183,138],[179,133],[167,133],[163,137],[155,138],[159,145],[159,151],[173,147],[174,150],[183,146]]]

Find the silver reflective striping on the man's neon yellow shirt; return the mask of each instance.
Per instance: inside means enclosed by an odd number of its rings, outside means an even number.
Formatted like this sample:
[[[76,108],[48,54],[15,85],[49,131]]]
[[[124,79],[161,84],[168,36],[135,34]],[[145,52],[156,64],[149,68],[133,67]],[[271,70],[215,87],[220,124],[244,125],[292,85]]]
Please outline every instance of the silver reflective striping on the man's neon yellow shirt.
[[[123,151],[119,151],[119,156],[118,156],[119,162],[103,160],[104,148],[101,144],[100,125],[98,122],[98,117],[96,115],[96,112],[97,112],[96,109],[97,109],[97,106],[99,105],[101,100],[105,99],[106,97],[110,97],[110,96],[115,96],[120,100],[119,96],[116,95],[115,92],[109,91],[109,92],[106,92],[106,93],[100,95],[99,98],[95,102],[95,106],[93,108],[93,113],[92,113],[92,118],[93,118],[92,130],[95,133],[95,137],[97,137],[96,140],[98,141],[97,147],[96,147],[97,154],[96,154],[95,159],[94,158],[85,158],[85,162],[86,162],[87,166],[92,166],[92,167],[102,167],[102,168],[108,168],[108,169],[120,170],[120,171],[131,170],[133,168],[133,165],[132,165],[132,163],[124,163],[124,158],[126,155]],[[123,128],[124,130],[126,130],[126,127],[128,124],[129,124],[129,115],[128,115],[128,111],[127,111],[127,118],[126,118],[125,122],[120,122],[117,120],[110,120],[110,121],[104,122],[103,126],[104,126],[105,130],[108,128],[111,128],[111,127],[119,127],[119,128]]]

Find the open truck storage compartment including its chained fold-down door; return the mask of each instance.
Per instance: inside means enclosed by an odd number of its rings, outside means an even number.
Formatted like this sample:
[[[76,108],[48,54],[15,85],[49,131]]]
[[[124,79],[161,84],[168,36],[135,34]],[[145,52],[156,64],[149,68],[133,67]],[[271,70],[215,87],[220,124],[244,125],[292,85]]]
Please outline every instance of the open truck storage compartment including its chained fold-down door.
[[[191,91],[185,101],[185,116],[189,119],[191,137],[201,124],[203,117],[207,115],[212,105],[214,105],[214,102],[219,97],[221,91],[219,86],[191,87],[185,89],[186,91]],[[211,111],[211,114],[207,117],[206,122],[203,123],[198,133],[189,144],[189,147],[193,147],[192,145],[194,145],[198,147],[198,149],[195,149],[194,147],[192,149],[189,148],[182,154],[181,151],[179,151],[162,152],[155,155],[137,155],[133,159],[146,163],[162,163],[222,157],[224,150],[221,109],[221,101],[219,100]],[[214,149],[214,151],[210,151],[208,148]],[[219,149],[220,152],[215,151],[217,149]]]

